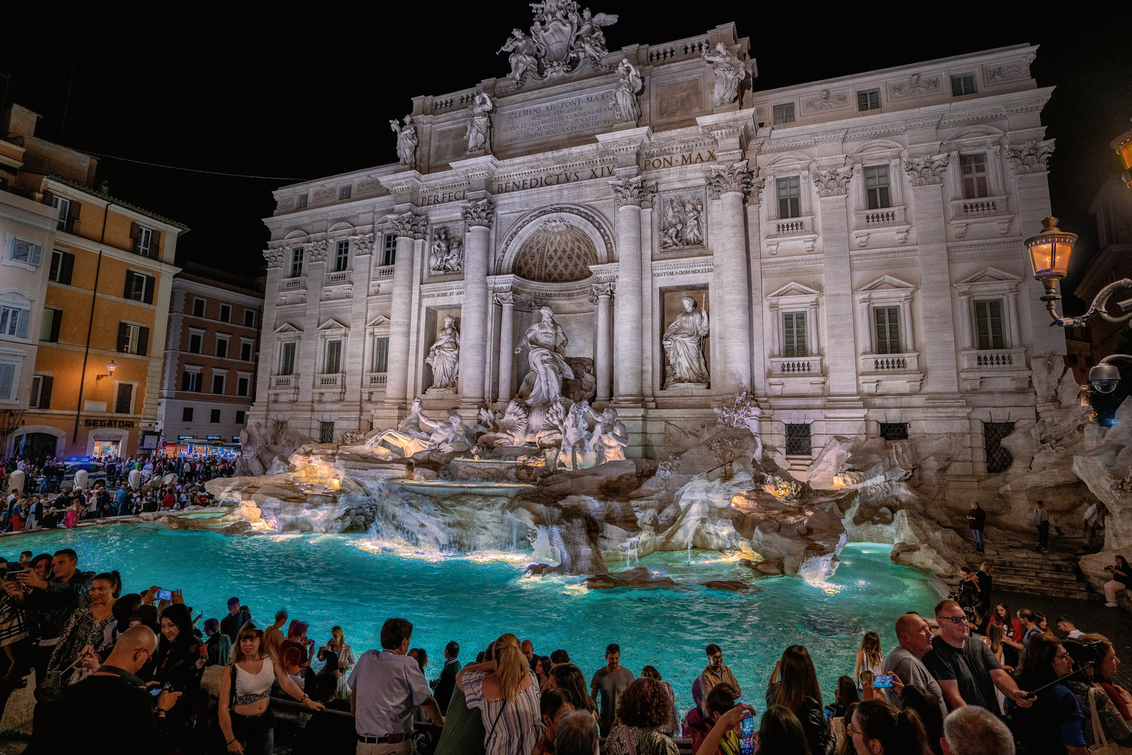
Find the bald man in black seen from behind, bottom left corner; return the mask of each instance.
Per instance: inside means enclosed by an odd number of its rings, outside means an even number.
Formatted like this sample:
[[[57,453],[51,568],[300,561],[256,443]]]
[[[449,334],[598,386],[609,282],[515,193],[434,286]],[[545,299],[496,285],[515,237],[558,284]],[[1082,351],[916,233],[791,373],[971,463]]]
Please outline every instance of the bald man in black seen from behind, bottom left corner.
[[[63,755],[101,752],[105,746],[138,755],[168,753],[165,712],[181,693],[162,692],[155,698],[135,676],[156,647],[153,630],[135,626],[118,638],[104,663],[84,659],[84,666],[96,669],[92,676],[66,687],[58,702],[35,706],[35,752]],[[60,726],[63,721],[66,726]]]

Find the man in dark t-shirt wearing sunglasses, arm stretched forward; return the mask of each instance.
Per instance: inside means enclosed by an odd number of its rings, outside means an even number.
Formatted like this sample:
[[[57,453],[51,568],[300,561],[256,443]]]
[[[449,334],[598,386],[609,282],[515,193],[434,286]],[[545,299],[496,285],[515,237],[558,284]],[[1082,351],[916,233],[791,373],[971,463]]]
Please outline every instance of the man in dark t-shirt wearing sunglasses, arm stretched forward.
[[[935,618],[940,634],[932,641],[932,652],[924,657],[924,664],[940,683],[947,710],[978,705],[1000,713],[995,687],[1021,707],[1034,704],[995,660],[990,649],[970,636],[967,615],[959,603],[941,600],[935,606]]]

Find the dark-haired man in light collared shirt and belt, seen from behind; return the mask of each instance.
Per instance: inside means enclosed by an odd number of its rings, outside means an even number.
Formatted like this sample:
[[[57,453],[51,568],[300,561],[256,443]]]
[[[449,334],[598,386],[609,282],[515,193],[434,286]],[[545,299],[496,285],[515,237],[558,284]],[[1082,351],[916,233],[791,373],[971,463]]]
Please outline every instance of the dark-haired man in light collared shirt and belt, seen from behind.
[[[381,650],[367,650],[350,674],[350,712],[358,733],[355,755],[411,755],[413,709],[420,705],[437,726],[440,707],[429,694],[417,661],[409,658],[413,625],[386,619]]]

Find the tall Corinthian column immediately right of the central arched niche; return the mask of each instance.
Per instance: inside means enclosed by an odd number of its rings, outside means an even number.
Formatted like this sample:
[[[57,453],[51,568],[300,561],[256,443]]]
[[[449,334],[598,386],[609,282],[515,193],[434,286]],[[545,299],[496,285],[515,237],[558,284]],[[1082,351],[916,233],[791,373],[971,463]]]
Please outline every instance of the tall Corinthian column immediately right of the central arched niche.
[[[652,203],[657,183],[645,183],[638,175],[615,179],[609,186],[614,189],[614,200],[617,203],[615,318],[620,325],[614,332],[614,402],[637,405],[642,401],[641,372],[644,367],[641,349],[641,303],[644,291],[644,282],[641,280],[641,205]]]

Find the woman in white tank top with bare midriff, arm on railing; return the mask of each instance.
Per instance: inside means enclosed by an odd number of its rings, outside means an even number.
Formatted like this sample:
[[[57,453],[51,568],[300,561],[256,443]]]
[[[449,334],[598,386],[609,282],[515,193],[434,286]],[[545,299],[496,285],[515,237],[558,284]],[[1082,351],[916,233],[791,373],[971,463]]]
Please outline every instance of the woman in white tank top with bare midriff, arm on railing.
[[[240,627],[232,651],[232,664],[220,681],[217,712],[228,752],[233,755],[272,755],[275,717],[271,711],[272,684],[278,679],[283,692],[312,711],[323,710],[303,694],[282,667],[267,658],[263,629],[249,621]]]

